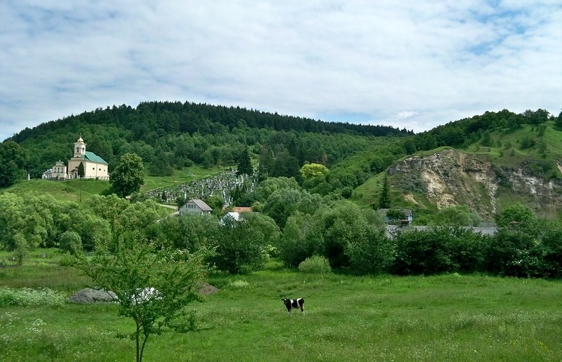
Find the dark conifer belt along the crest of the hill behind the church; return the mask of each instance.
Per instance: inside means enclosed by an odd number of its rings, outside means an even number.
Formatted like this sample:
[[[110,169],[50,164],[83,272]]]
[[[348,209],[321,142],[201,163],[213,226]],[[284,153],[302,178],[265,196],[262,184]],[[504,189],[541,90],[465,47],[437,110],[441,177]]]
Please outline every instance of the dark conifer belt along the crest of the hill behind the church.
[[[270,128],[295,132],[346,133],[352,135],[411,135],[412,131],[391,126],[362,125],[355,123],[326,122],[299,116],[287,116],[261,112],[241,107],[225,107],[192,102],[142,102],[133,108],[127,105],[98,108],[64,119],[42,123],[35,128],[25,128],[11,140],[21,143],[50,130],[68,124],[112,124],[133,131],[137,138],[157,133],[216,133],[216,125],[233,128]],[[138,137],[143,135],[143,137]],[[150,135],[148,135],[150,138]]]

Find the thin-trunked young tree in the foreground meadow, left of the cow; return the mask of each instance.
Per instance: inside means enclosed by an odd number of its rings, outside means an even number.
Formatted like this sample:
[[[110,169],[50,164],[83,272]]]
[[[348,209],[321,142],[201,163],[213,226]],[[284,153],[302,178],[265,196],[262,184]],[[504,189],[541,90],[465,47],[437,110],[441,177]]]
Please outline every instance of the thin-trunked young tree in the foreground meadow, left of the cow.
[[[166,248],[126,232],[110,243],[99,243],[91,259],[79,255],[74,266],[99,288],[117,295],[119,315],[135,321],[129,337],[136,341],[136,361],[141,362],[148,337],[166,328],[178,330],[185,306],[200,300],[197,290],[207,278],[208,255],[204,249],[189,253]],[[193,329],[192,318],[189,322],[182,331]]]

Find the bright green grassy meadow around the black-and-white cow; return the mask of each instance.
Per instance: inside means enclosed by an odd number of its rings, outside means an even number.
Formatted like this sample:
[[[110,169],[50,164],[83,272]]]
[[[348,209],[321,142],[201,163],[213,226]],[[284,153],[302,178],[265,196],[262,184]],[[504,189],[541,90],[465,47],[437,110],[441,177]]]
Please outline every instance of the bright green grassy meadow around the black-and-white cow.
[[[0,268],[0,288],[69,297],[89,280],[55,250]],[[0,260],[6,260],[0,255]],[[197,330],[151,336],[145,361],[561,361],[562,283],[485,275],[302,274],[270,262],[190,304]],[[303,297],[287,313],[281,297]],[[0,289],[0,303],[1,303]],[[115,304],[0,307],[1,361],[131,361]]]

